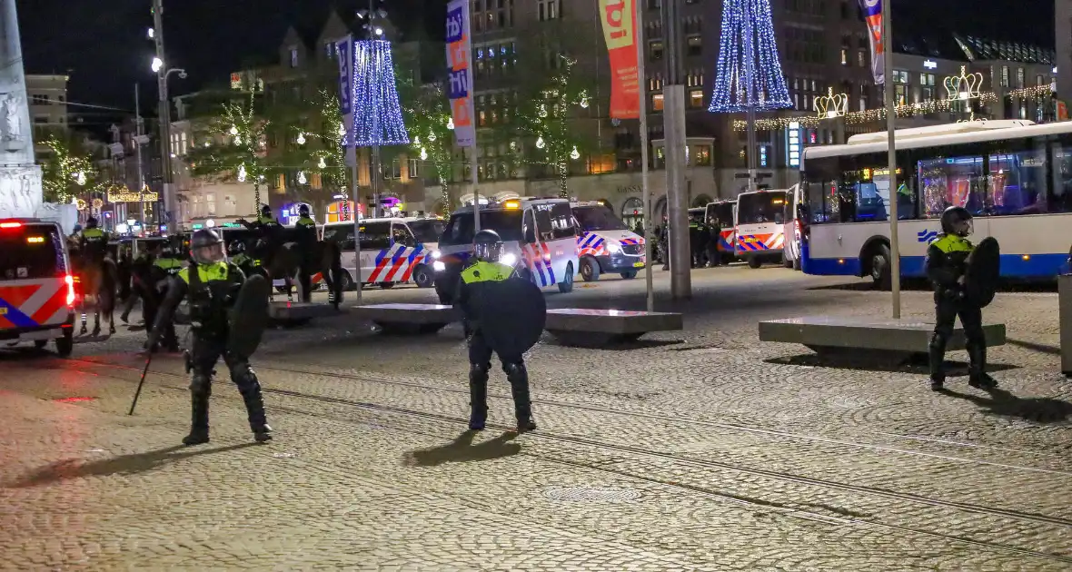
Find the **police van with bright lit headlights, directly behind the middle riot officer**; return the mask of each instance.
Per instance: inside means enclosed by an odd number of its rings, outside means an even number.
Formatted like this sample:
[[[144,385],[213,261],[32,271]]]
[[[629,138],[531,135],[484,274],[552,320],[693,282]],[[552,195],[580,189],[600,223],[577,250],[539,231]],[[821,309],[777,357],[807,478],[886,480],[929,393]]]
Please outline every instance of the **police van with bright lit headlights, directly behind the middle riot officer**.
[[[450,303],[462,267],[473,255],[473,207],[450,215],[435,257],[435,292]],[[501,261],[513,266],[541,288],[574,289],[579,268],[580,231],[569,201],[564,198],[521,198],[480,205],[480,229],[498,232],[504,243]],[[437,255],[437,256],[436,256]]]

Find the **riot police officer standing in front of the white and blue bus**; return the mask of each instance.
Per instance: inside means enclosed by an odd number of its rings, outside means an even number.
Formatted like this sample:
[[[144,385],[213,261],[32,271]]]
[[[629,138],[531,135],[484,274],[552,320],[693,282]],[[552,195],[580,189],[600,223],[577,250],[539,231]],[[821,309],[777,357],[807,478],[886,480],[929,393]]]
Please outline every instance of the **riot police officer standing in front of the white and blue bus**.
[[[927,246],[926,272],[935,288],[935,331],[930,336],[930,389],[940,390],[946,381],[942,367],[946,344],[953,335],[957,316],[964,326],[969,359],[968,385],[993,388],[996,382],[986,374],[986,340],[983,335],[983,311],[967,297],[965,272],[968,255],[974,246],[967,239],[972,231],[971,213],[963,207],[950,207],[941,215],[942,234]]]

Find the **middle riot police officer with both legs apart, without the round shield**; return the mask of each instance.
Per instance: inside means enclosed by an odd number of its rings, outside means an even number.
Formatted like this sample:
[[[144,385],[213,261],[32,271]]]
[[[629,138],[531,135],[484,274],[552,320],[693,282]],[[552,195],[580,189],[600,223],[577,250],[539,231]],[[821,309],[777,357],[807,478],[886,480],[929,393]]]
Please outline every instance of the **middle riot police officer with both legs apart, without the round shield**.
[[[524,279],[515,273],[513,267],[498,261],[503,254],[503,241],[494,230],[477,232],[473,245],[475,261],[462,269],[455,306],[462,311],[468,334],[470,428],[479,431],[488,420],[488,371],[491,370],[492,355],[492,348],[483,335],[481,320],[495,319],[496,316],[481,316],[477,304],[486,297],[501,295],[502,284],[506,281]],[[522,355],[498,352],[498,361],[503,363],[503,371],[510,382],[518,433],[535,430],[536,422],[533,421],[532,398],[528,394],[528,371]]]

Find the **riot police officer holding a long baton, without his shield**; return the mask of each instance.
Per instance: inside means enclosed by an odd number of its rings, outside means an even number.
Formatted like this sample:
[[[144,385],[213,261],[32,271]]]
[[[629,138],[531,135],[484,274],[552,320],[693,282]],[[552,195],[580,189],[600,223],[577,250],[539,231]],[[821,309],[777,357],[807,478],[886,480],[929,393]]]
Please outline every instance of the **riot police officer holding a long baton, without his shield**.
[[[169,280],[167,296],[148,344],[151,349],[175,308],[183,298],[189,298],[193,326],[193,347],[188,358],[189,367],[193,371],[190,383],[192,420],[190,435],[182,442],[188,446],[208,442],[208,401],[212,394],[213,368],[221,357],[230,372],[230,380],[238,386],[245,402],[254,438],[257,442],[269,441],[271,427],[265,418],[260,383],[250,367],[250,357],[228,345],[228,311],[236,304],[245,276],[238,267],[227,262],[223,239],[214,230],[197,230],[190,246],[190,266]],[[265,295],[267,299],[267,288]]]

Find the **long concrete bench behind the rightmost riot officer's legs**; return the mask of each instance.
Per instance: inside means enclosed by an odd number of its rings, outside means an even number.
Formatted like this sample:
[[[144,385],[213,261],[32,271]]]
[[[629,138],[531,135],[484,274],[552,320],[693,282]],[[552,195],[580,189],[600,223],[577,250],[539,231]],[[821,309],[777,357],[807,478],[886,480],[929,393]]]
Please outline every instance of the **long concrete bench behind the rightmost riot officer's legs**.
[[[882,319],[855,316],[805,316],[759,322],[760,342],[802,344],[820,356],[879,356],[907,360],[926,355],[934,323],[911,319]],[[983,326],[987,346],[1006,343],[1003,323]],[[947,350],[965,348],[959,322]]]

